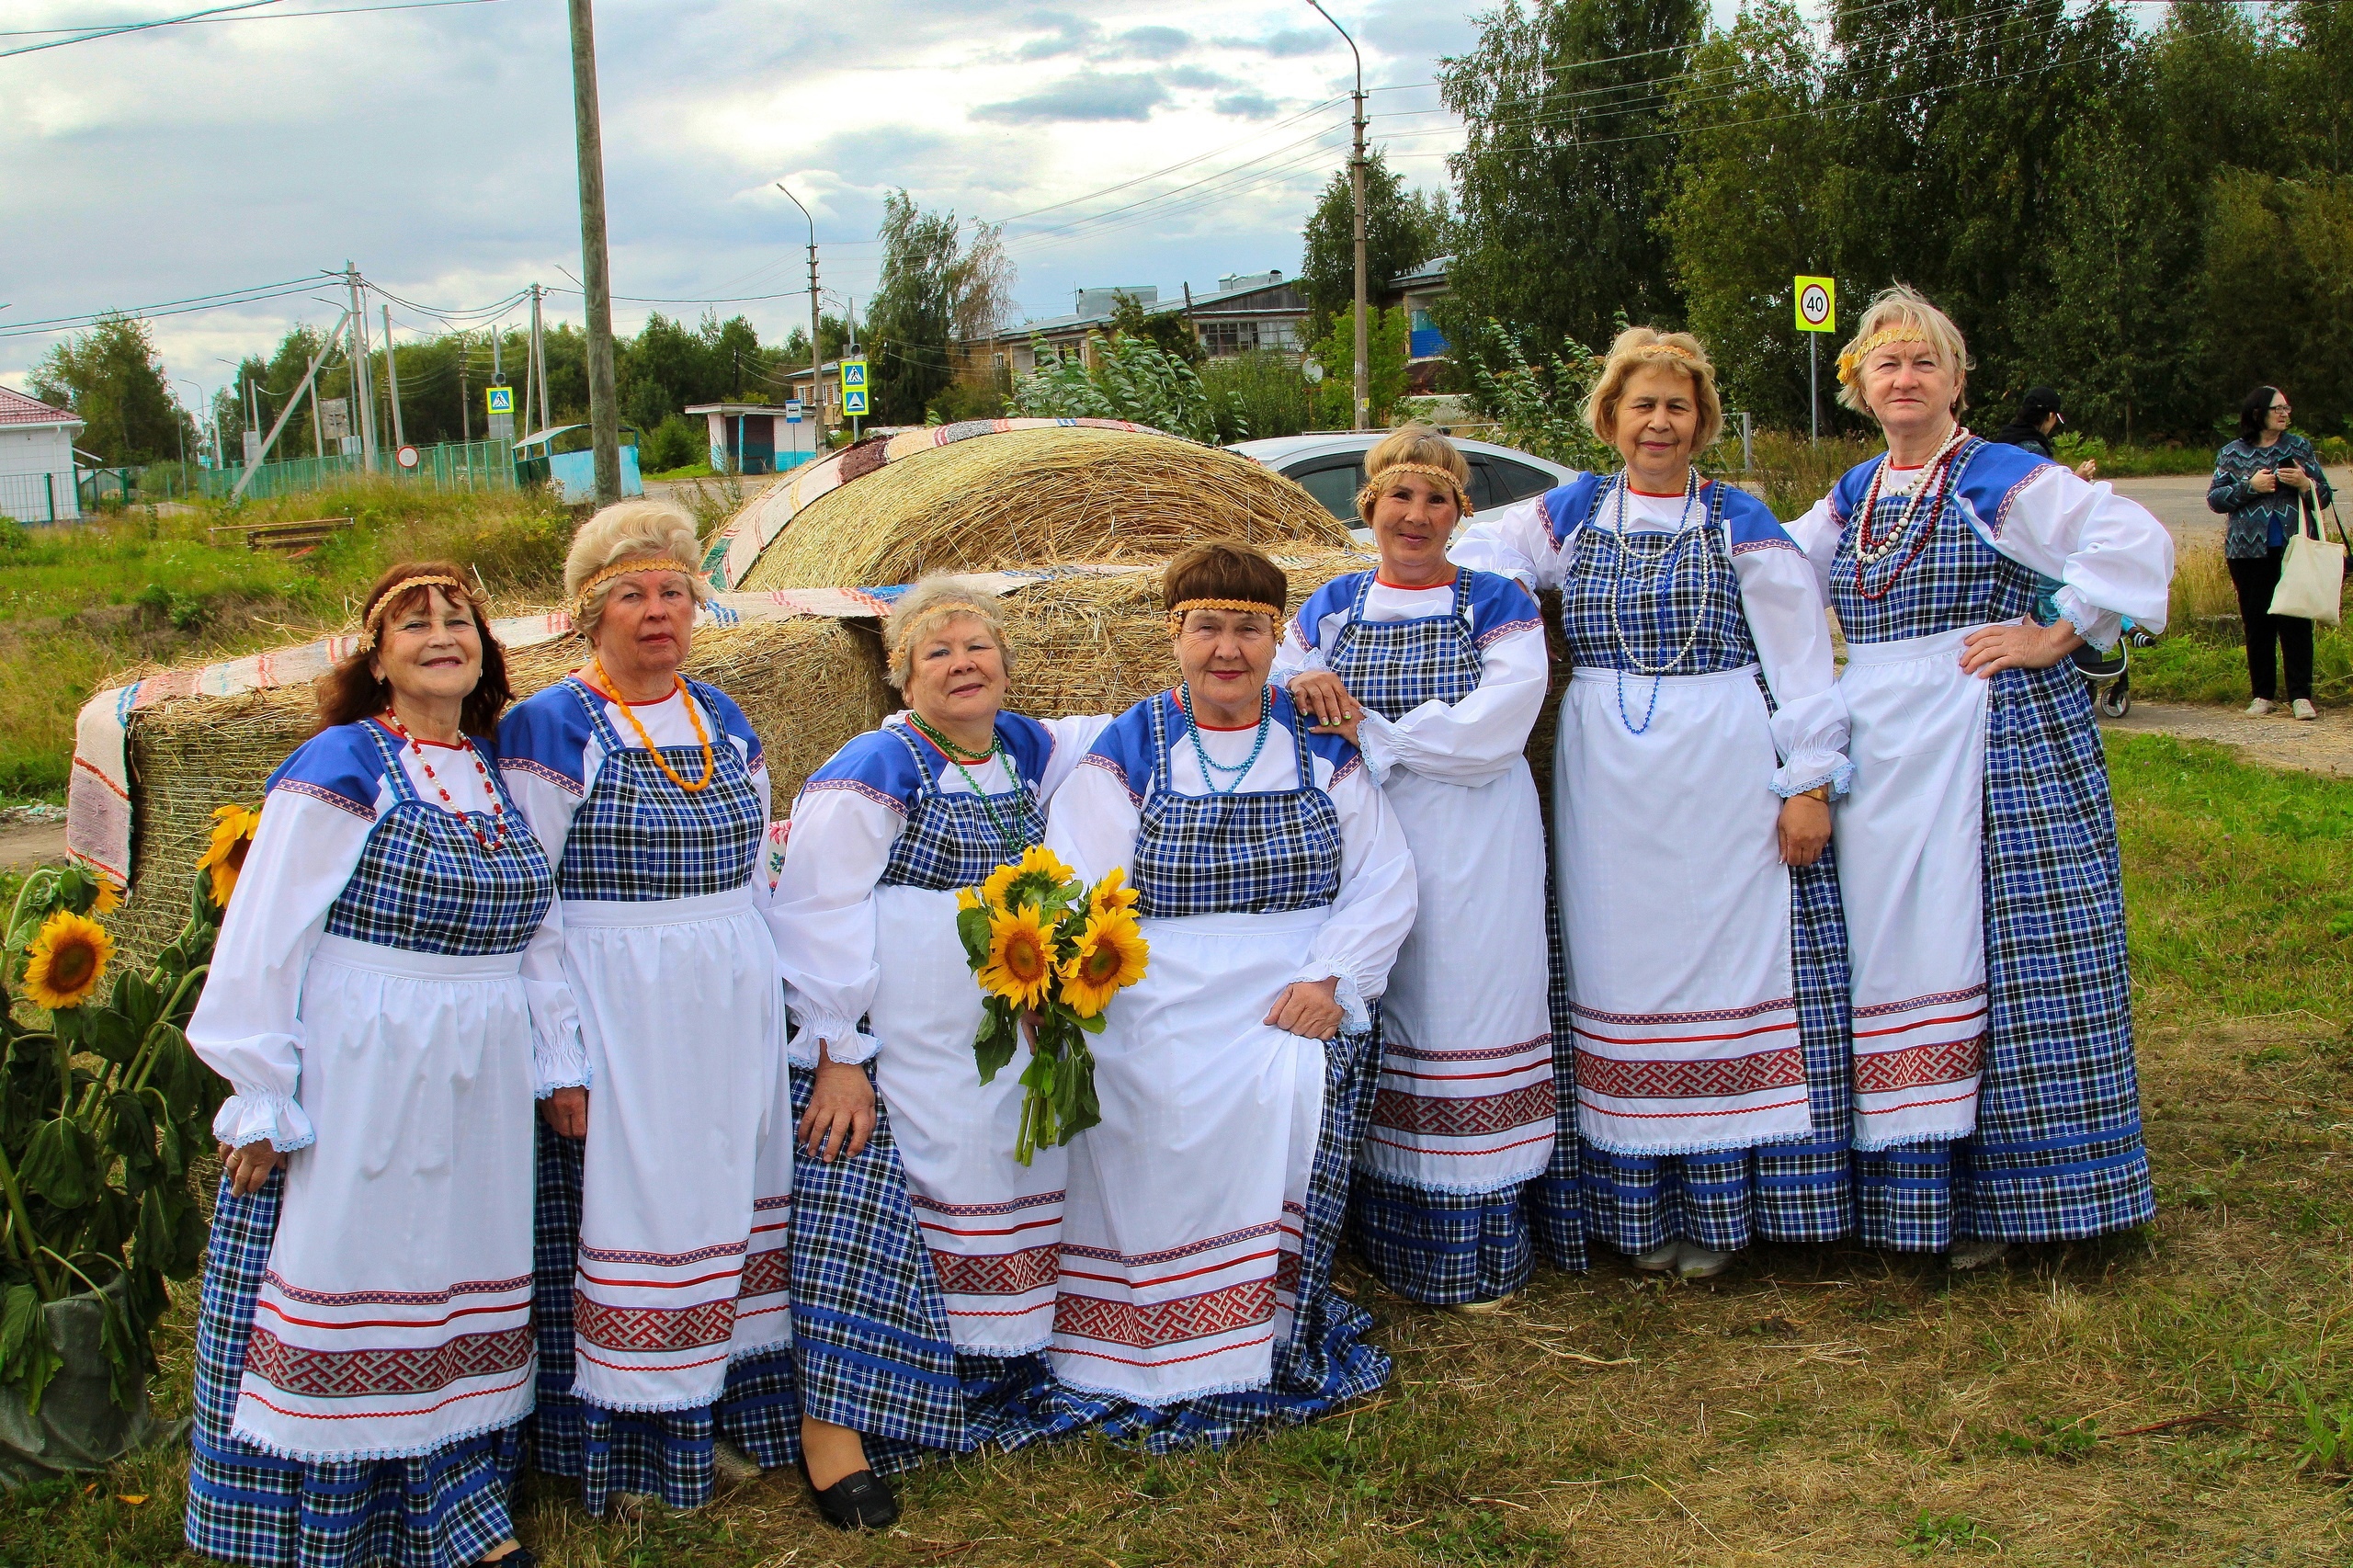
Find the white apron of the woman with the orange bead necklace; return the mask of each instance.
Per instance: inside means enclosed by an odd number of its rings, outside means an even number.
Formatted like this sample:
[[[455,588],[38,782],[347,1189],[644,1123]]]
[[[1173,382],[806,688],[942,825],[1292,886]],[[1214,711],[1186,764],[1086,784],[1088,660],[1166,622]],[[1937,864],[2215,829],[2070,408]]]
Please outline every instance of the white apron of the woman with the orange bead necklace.
[[[776,946],[751,888],[562,921],[593,1074],[572,1391],[708,1406],[729,1361],[793,1337]]]

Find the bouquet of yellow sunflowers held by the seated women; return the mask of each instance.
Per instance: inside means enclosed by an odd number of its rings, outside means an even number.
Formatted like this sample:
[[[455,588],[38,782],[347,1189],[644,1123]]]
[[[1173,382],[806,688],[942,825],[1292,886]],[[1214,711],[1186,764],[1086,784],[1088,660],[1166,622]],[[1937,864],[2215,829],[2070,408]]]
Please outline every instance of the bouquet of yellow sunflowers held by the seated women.
[[[1104,1118],[1087,1036],[1104,1031],[1111,998],[1144,979],[1136,892],[1118,869],[1089,888],[1040,845],[955,895],[955,935],[988,996],[972,1041],[981,1083],[1014,1059],[1024,1015],[1035,1017],[1014,1135],[1014,1158],[1028,1165],[1040,1147],[1066,1144]]]

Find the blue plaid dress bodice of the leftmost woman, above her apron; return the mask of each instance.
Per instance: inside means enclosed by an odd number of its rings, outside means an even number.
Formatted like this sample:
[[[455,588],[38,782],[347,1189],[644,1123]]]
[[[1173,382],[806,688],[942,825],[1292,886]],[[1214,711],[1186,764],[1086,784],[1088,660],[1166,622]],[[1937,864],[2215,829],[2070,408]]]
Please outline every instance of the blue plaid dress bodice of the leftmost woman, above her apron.
[[[384,756],[393,803],[376,817],[360,864],[327,909],[327,935],[409,954],[520,954],[548,913],[555,878],[499,770],[485,760],[506,815],[459,817],[416,793],[381,725],[365,730]],[[480,758],[475,742],[466,744],[466,758]]]

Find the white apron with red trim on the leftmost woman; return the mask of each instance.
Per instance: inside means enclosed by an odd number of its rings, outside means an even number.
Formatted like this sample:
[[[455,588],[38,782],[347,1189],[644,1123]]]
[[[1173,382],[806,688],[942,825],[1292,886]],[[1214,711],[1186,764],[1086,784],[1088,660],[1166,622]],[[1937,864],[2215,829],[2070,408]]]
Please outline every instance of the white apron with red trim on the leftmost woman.
[[[426,1455],[532,1410],[532,1024],[520,954],[320,937],[235,1436],[296,1460]],[[367,1224],[353,1224],[353,1215]],[[435,1290],[384,1290],[384,1260]]]

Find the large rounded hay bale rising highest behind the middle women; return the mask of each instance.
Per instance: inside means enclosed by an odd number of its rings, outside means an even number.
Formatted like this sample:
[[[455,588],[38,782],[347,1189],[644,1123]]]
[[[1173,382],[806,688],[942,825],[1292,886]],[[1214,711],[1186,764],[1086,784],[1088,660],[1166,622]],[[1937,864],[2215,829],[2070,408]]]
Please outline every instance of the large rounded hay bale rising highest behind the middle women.
[[[1348,530],[1238,452],[1148,431],[993,431],[918,445],[819,494],[739,586],[871,589],[925,572],[1165,560],[1195,539],[1344,549]]]

